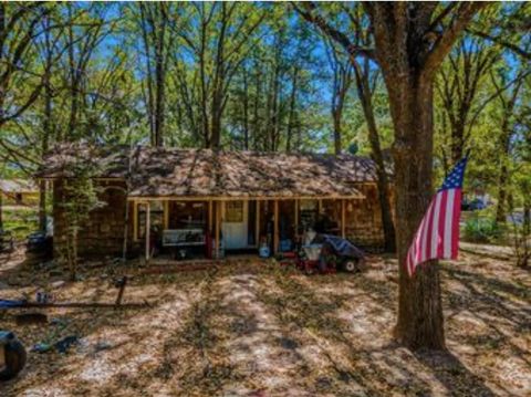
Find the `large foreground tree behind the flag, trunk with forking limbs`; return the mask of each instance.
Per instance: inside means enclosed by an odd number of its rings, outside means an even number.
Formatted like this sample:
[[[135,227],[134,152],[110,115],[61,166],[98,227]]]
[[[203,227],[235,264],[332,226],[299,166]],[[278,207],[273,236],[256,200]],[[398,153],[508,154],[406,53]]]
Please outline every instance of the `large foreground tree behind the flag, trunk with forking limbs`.
[[[412,348],[445,348],[440,280],[437,261],[406,270],[409,244],[431,198],[433,83],[434,76],[459,33],[485,3],[446,6],[438,17],[437,3],[364,2],[371,20],[375,49],[354,45],[348,36],[315,17],[316,6],[303,3],[298,11],[317,25],[350,56],[373,56],[378,62],[387,92],[395,129],[396,242],[399,268],[398,322],[396,338]],[[296,6],[295,6],[296,7]],[[435,33],[441,17],[451,22]],[[434,21],[437,21],[435,22]],[[444,23],[442,23],[444,24]],[[434,36],[436,40],[433,40]]]

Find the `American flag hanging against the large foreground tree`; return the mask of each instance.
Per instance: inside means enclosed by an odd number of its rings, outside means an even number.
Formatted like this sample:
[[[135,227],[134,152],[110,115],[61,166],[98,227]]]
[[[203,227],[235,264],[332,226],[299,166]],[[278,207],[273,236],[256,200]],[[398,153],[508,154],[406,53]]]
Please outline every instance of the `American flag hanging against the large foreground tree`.
[[[407,272],[431,259],[456,259],[459,248],[461,188],[468,156],[459,160],[431,199],[407,252]]]

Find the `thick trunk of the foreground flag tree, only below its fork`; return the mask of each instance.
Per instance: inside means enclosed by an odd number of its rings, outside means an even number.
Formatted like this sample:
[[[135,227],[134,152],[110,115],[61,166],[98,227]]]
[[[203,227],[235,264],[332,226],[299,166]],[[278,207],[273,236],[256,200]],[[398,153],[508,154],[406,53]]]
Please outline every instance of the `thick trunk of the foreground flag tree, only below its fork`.
[[[410,242],[433,196],[433,82],[415,71],[405,80],[408,84],[387,85],[396,135],[399,302],[395,336],[413,348],[442,349],[445,334],[438,263],[430,261],[418,267],[413,278],[405,267]]]

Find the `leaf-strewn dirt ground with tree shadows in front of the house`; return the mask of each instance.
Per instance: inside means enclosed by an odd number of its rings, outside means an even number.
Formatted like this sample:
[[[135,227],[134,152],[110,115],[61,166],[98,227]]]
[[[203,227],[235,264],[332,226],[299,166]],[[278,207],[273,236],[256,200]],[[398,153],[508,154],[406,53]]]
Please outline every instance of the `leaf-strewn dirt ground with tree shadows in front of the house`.
[[[23,255],[0,258],[0,297],[112,302],[113,274],[64,275]],[[1,328],[30,349],[67,335],[69,352],[29,353],[1,396],[531,396],[531,272],[471,253],[442,264],[448,352],[392,339],[396,262],[371,257],[363,274],[305,276],[258,260],[214,270],[136,276],[124,302],[147,309],[46,310],[49,323]]]

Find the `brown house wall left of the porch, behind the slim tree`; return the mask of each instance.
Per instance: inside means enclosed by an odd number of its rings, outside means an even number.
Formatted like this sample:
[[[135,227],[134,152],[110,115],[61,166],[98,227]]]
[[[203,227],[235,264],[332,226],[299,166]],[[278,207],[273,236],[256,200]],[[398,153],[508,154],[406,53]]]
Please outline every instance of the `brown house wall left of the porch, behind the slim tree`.
[[[121,255],[124,243],[125,227],[125,184],[117,181],[100,182],[98,199],[103,202],[90,213],[90,219],[83,224],[79,236],[79,254]],[[66,242],[66,222],[61,202],[64,202],[63,181],[53,184],[53,242],[54,254],[64,250]]]

